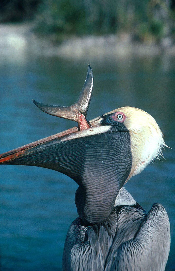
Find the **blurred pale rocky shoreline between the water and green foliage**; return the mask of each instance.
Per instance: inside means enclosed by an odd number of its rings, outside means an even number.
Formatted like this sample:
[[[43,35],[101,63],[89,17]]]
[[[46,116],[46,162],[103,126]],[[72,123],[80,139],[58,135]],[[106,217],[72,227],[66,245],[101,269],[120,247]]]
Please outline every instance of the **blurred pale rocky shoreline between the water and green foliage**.
[[[175,55],[175,45],[170,38],[161,44],[145,44],[133,42],[130,34],[107,36],[70,37],[58,45],[46,38],[37,37],[31,24],[0,25],[0,55],[19,55],[32,53],[35,55],[58,56],[76,59],[91,57],[126,57],[152,56],[167,54]]]

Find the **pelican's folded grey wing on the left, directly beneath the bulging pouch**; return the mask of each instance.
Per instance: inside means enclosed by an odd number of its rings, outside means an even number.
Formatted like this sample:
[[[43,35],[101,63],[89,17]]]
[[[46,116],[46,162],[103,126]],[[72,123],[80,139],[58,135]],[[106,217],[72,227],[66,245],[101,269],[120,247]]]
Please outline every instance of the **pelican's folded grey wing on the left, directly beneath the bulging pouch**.
[[[64,243],[63,271],[103,271],[106,256],[116,232],[118,213],[88,228],[80,219],[72,222]]]

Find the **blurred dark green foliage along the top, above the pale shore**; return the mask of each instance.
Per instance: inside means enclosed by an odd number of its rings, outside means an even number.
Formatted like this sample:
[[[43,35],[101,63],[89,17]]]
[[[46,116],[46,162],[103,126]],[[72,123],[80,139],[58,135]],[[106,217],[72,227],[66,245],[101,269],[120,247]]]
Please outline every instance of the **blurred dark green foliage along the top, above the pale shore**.
[[[69,35],[110,33],[131,33],[135,40],[143,42],[160,41],[171,33],[174,37],[175,0],[1,0],[0,3],[1,21],[35,16],[35,32],[50,35],[53,40]]]

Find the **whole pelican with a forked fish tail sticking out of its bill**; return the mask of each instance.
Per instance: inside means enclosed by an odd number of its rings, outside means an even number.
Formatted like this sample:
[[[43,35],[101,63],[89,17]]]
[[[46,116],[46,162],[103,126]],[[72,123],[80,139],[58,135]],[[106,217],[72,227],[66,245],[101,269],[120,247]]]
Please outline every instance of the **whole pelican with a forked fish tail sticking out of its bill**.
[[[167,212],[155,203],[146,213],[123,187],[161,155],[166,146],[162,132],[151,115],[134,107],[87,121],[92,89],[88,66],[73,105],[33,101],[48,114],[78,122],[78,127],[0,154],[0,163],[46,167],[79,185],[79,217],[67,232],[63,270],[164,270],[170,250]]]

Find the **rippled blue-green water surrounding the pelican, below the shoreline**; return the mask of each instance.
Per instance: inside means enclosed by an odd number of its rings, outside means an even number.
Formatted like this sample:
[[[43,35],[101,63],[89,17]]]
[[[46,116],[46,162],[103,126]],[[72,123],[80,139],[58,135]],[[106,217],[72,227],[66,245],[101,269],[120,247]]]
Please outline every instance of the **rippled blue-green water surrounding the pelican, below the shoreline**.
[[[175,270],[175,58],[61,60],[56,57],[0,57],[0,153],[76,125],[40,111],[32,99],[70,105],[79,96],[88,63],[94,89],[88,120],[121,106],[151,114],[172,149],[125,185],[148,211],[154,202],[166,208],[171,249],[166,270]],[[53,170],[0,167],[1,269],[61,270],[64,240],[77,217],[77,184]]]

